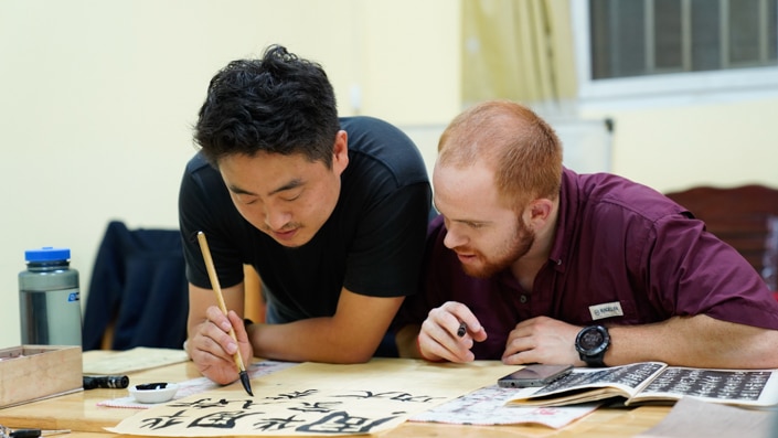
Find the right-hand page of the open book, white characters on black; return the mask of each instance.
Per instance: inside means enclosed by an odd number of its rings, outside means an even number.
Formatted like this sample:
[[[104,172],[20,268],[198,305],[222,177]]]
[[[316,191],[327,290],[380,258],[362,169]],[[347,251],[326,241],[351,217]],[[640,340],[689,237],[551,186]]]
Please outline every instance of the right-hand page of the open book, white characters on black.
[[[778,404],[778,373],[776,370],[708,370],[671,366],[662,371],[628,404],[674,402],[684,396],[738,406],[775,406]]]

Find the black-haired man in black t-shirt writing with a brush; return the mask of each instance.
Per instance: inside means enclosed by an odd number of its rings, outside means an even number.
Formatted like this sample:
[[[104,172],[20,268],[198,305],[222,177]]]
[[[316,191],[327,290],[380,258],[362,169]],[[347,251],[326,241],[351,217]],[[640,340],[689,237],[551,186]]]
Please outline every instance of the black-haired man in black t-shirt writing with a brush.
[[[431,191],[413,141],[375,118],[339,118],[322,67],[279,45],[213,77],[194,138],[201,150],[182,179],[179,218],[185,349],[198,368],[234,382],[237,349],[246,362],[372,357],[417,289]],[[226,317],[198,232],[207,236]],[[244,323],[244,265],[262,279],[265,323]]]

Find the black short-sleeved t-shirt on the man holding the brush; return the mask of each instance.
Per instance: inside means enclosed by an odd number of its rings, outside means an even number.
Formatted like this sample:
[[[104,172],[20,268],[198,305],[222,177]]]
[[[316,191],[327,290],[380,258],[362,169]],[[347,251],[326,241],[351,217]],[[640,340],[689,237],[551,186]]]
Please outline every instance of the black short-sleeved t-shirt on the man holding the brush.
[[[370,117],[341,118],[349,165],[332,215],[297,248],[276,243],[235,209],[217,170],[200,153],[190,160],[179,194],[186,278],[211,281],[196,241],[205,233],[220,285],[243,281],[253,265],[268,302],[284,320],[334,314],[342,287],[373,297],[415,293],[431,190],[422,154],[394,126]]]

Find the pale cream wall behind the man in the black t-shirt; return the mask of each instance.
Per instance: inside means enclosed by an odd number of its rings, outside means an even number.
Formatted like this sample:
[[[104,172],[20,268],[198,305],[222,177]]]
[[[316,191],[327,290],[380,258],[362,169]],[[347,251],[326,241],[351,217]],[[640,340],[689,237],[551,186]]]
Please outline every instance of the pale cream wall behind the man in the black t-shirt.
[[[457,14],[448,0],[0,1],[0,348],[20,343],[25,249],[71,247],[84,301],[110,220],[178,226],[191,126],[228,61],[281,43],[324,66],[342,115],[441,125],[459,109]]]

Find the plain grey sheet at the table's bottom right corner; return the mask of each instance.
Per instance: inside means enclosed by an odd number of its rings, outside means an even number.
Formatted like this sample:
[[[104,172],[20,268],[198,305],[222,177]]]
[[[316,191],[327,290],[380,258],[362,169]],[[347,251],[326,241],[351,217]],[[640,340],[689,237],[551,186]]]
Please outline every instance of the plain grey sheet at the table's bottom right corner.
[[[662,421],[635,438],[768,438],[778,413],[681,398]]]

